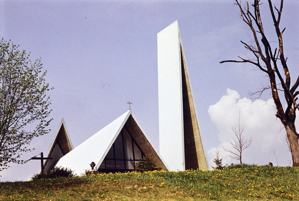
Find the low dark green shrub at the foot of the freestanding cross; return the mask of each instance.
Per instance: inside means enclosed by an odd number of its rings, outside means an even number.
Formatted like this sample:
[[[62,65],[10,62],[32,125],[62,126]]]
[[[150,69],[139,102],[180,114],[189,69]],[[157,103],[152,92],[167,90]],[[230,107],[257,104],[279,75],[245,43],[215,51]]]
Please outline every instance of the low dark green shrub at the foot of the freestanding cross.
[[[52,170],[50,170],[50,172],[47,174],[45,173],[44,175],[42,174],[36,174],[32,177],[33,180],[35,179],[53,179],[53,178],[57,178],[57,177],[74,177],[74,171],[72,171],[71,169],[68,168],[64,168],[64,167],[54,167]]]

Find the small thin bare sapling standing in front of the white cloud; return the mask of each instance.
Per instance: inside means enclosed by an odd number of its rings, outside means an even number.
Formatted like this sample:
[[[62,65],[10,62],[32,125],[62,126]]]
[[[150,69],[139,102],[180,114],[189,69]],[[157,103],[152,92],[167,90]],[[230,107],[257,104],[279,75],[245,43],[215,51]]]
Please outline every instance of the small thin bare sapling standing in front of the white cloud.
[[[234,132],[236,138],[233,138],[233,141],[230,141],[232,150],[225,148],[224,150],[230,153],[232,159],[236,159],[242,164],[242,152],[250,146],[252,139],[244,139],[243,131],[245,127],[240,124],[240,112],[238,124],[231,126],[230,129]]]

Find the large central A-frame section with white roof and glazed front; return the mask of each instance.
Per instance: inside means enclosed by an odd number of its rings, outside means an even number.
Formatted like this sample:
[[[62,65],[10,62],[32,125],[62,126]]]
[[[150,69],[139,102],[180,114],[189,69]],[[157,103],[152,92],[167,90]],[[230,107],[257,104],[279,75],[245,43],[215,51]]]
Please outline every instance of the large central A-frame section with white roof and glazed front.
[[[132,149],[125,151],[125,148],[130,147],[129,144]],[[135,121],[131,110],[128,110],[62,157],[56,166],[68,167],[77,175],[90,170],[91,162],[95,162],[95,169],[102,172],[105,172],[105,169],[124,170],[123,167],[130,171],[135,167],[135,162],[145,155],[153,157],[158,167],[167,170],[161,157]]]

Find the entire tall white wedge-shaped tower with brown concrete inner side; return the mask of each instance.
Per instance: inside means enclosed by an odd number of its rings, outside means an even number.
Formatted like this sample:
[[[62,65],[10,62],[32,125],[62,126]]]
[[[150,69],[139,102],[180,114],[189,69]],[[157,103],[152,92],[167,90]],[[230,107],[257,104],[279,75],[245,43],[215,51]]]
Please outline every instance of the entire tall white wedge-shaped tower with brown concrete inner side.
[[[207,169],[178,21],[157,41],[160,154],[170,170]]]

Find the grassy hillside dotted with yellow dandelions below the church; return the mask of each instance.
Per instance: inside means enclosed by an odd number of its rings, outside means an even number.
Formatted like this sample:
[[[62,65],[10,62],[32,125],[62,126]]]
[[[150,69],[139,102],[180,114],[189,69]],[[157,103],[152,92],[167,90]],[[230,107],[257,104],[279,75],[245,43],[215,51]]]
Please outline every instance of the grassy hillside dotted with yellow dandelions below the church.
[[[0,183],[0,200],[297,200],[298,167],[116,173]]]

